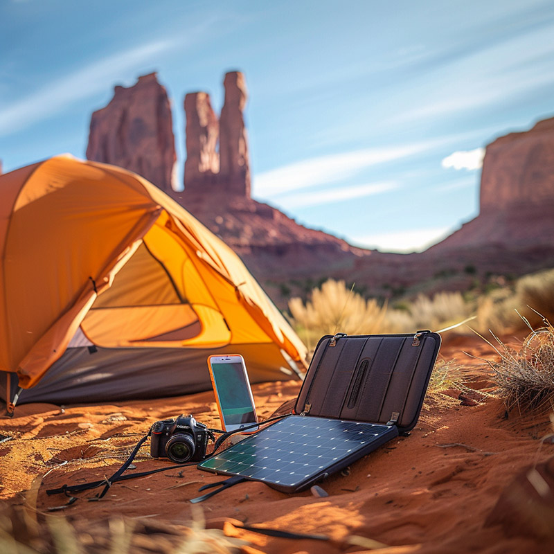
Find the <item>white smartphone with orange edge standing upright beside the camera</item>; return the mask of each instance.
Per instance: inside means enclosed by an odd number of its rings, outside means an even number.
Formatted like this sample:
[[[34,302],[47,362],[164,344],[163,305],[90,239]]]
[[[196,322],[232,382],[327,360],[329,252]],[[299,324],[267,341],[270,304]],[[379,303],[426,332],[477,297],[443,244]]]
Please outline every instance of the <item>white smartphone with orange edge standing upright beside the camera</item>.
[[[210,356],[210,379],[224,431],[236,431],[258,423],[247,366],[239,354]],[[248,429],[253,433],[258,427]]]

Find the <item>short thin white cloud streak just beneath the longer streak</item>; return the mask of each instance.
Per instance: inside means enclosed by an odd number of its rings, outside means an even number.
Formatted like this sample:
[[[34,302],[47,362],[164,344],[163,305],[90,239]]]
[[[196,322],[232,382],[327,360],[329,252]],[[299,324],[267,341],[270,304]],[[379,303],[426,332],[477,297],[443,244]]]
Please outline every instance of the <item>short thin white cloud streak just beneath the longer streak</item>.
[[[382,181],[364,185],[337,186],[330,190],[318,190],[315,192],[296,193],[278,197],[276,202],[285,209],[307,208],[330,204],[331,202],[344,202],[355,198],[388,193],[400,188],[400,184],[394,181]]]

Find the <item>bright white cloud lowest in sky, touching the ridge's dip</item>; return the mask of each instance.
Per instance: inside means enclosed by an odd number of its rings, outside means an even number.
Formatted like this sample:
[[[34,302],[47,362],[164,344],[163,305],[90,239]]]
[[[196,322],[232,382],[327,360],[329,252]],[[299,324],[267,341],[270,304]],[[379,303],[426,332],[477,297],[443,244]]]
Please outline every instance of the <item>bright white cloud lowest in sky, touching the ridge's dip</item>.
[[[421,252],[432,244],[447,237],[452,231],[449,227],[431,227],[427,229],[405,229],[391,233],[377,233],[347,238],[350,244],[378,249],[382,252]]]

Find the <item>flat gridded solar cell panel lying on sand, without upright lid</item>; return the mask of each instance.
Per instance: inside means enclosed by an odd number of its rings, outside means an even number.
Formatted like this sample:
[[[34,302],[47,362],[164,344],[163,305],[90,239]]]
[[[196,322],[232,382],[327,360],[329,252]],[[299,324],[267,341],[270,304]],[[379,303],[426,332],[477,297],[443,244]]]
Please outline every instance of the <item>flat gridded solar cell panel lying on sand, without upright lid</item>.
[[[289,415],[198,467],[262,481],[283,492],[297,492],[396,436],[394,425]]]

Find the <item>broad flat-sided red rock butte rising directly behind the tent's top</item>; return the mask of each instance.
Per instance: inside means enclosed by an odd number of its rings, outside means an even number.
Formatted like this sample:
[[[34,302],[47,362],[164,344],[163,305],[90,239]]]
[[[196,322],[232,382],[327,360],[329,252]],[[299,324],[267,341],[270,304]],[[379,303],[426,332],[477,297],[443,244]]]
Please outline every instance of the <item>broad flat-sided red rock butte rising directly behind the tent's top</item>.
[[[156,73],[134,86],[116,86],[109,104],[92,114],[87,159],[132,170],[171,192],[175,138],[166,89]]]

